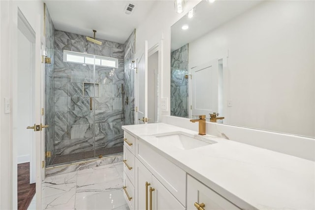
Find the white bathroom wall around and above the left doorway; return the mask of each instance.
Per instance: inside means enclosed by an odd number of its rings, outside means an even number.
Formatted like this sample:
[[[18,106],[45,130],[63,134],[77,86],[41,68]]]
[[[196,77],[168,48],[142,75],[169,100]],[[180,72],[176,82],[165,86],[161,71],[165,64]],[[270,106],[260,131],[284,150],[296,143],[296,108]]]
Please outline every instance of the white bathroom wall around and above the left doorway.
[[[37,20],[43,20],[43,2],[34,1],[0,1],[0,209],[17,209],[17,161],[16,143],[12,139],[12,112],[4,114],[3,98],[13,97],[13,81],[17,77],[17,9],[21,9],[32,28],[36,39],[40,39],[43,26],[36,26]],[[43,21],[40,21],[43,23]],[[38,43],[38,42],[37,42]],[[40,44],[36,45],[37,55],[40,55]],[[36,62],[39,60],[36,59]],[[13,190],[13,188],[15,190]],[[15,192],[14,192],[15,191]]]

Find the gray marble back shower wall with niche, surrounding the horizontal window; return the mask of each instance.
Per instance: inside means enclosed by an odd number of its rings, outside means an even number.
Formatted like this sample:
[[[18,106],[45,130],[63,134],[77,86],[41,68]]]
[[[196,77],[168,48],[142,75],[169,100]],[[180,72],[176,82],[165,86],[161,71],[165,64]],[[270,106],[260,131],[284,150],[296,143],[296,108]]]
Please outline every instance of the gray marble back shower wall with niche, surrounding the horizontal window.
[[[91,31],[92,35],[92,31]],[[122,84],[125,83],[125,44],[101,40],[102,45],[86,41],[86,36],[55,31],[54,70],[54,145],[57,155],[90,151],[123,145]],[[97,38],[97,37],[96,37]],[[98,39],[100,40],[100,39]],[[90,110],[90,97],[84,94],[84,83],[94,82],[91,65],[63,62],[63,50],[87,52],[117,58],[119,68],[95,67],[98,97],[93,97],[94,110]],[[110,72],[114,71],[113,75]],[[124,84],[125,85],[125,84]],[[86,84],[85,86],[91,86]],[[95,127],[94,122],[95,113]]]

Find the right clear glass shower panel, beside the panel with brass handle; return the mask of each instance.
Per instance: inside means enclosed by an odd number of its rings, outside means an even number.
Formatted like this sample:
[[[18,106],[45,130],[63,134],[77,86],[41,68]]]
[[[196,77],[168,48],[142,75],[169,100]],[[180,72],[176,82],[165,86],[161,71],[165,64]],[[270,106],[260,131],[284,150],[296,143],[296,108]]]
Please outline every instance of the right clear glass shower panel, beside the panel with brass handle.
[[[124,145],[124,67],[105,67],[103,59],[95,56],[95,157],[121,153]]]

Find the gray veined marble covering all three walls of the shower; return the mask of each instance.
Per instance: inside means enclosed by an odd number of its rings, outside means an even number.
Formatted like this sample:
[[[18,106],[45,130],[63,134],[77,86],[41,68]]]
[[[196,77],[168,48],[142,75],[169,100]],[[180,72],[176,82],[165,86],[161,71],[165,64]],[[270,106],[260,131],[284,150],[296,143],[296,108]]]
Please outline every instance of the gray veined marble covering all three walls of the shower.
[[[47,14],[49,16],[48,10]],[[51,18],[46,17],[47,51],[52,55],[53,63],[47,65],[45,71],[45,119],[50,124],[45,136],[46,150],[52,151],[53,155],[90,151],[95,147],[122,146],[121,126],[134,121],[134,70],[131,64],[135,32],[124,44],[100,41],[102,45],[96,45],[87,42],[84,35],[55,30]],[[63,50],[117,58],[119,68],[113,70],[63,62]],[[98,83],[95,90],[94,82]],[[125,103],[126,96],[129,97],[128,105]],[[90,110],[90,97],[93,99],[93,110]]]

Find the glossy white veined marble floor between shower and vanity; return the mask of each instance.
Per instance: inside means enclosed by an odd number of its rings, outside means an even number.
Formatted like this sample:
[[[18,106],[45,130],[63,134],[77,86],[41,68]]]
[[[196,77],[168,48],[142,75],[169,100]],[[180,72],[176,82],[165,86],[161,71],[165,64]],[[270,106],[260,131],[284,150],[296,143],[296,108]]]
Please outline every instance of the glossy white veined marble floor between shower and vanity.
[[[129,210],[123,192],[123,163],[45,178],[44,210]]]

